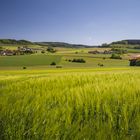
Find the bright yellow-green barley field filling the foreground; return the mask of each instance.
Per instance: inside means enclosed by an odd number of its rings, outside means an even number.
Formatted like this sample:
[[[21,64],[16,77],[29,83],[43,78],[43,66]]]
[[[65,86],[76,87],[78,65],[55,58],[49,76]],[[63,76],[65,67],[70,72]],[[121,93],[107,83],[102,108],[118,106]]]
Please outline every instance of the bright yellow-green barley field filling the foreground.
[[[139,140],[140,69],[0,71],[1,140]]]

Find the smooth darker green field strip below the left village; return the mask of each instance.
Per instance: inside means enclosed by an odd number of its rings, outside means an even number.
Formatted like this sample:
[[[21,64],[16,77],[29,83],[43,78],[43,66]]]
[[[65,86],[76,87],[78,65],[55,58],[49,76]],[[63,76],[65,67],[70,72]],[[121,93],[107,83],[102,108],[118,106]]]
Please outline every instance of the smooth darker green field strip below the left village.
[[[1,67],[16,67],[16,66],[40,66],[50,65],[51,62],[59,64],[61,56],[51,55],[22,55],[22,56],[1,56]]]

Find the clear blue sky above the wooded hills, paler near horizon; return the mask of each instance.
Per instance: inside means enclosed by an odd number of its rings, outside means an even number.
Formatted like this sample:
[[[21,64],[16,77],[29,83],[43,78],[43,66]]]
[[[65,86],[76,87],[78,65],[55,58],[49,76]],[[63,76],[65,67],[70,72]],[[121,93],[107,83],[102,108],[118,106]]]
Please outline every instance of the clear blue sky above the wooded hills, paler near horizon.
[[[0,38],[99,45],[140,39],[140,0],[0,0]]]

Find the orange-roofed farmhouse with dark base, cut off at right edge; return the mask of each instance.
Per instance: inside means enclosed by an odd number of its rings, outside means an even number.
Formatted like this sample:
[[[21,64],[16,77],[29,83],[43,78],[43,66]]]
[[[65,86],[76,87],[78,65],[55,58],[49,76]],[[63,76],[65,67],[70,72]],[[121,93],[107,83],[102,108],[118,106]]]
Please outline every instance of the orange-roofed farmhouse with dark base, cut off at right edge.
[[[139,66],[139,64],[140,64],[140,55],[131,56],[129,61],[130,61],[130,66]]]

